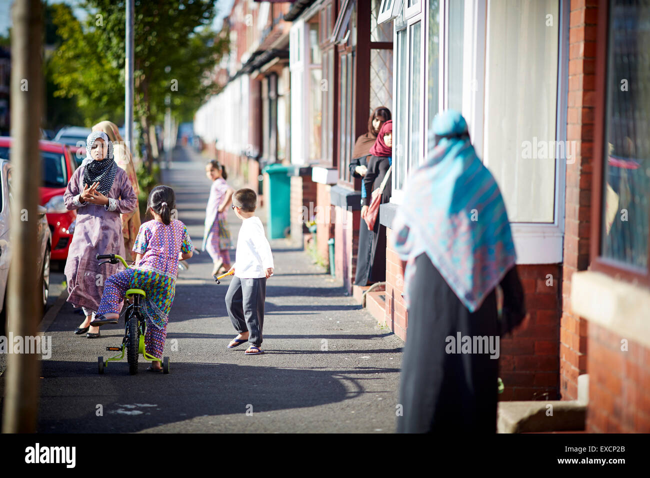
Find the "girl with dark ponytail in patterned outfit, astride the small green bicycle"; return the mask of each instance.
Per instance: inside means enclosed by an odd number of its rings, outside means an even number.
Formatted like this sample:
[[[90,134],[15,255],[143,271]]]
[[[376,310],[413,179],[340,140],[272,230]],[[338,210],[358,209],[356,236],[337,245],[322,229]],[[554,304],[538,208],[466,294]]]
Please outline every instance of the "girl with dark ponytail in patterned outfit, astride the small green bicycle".
[[[104,284],[97,317],[91,325],[116,324],[120,303],[128,289],[142,289],[147,314],[145,350],[162,357],[167,336],[169,312],[174,302],[178,261],[192,257],[194,246],[183,222],[172,219],[174,190],[168,186],[153,188],[147,201],[152,220],[140,226],[133,251],[135,265],[110,276]],[[110,251],[107,251],[110,252]],[[161,362],[151,362],[150,371],[162,371]]]

